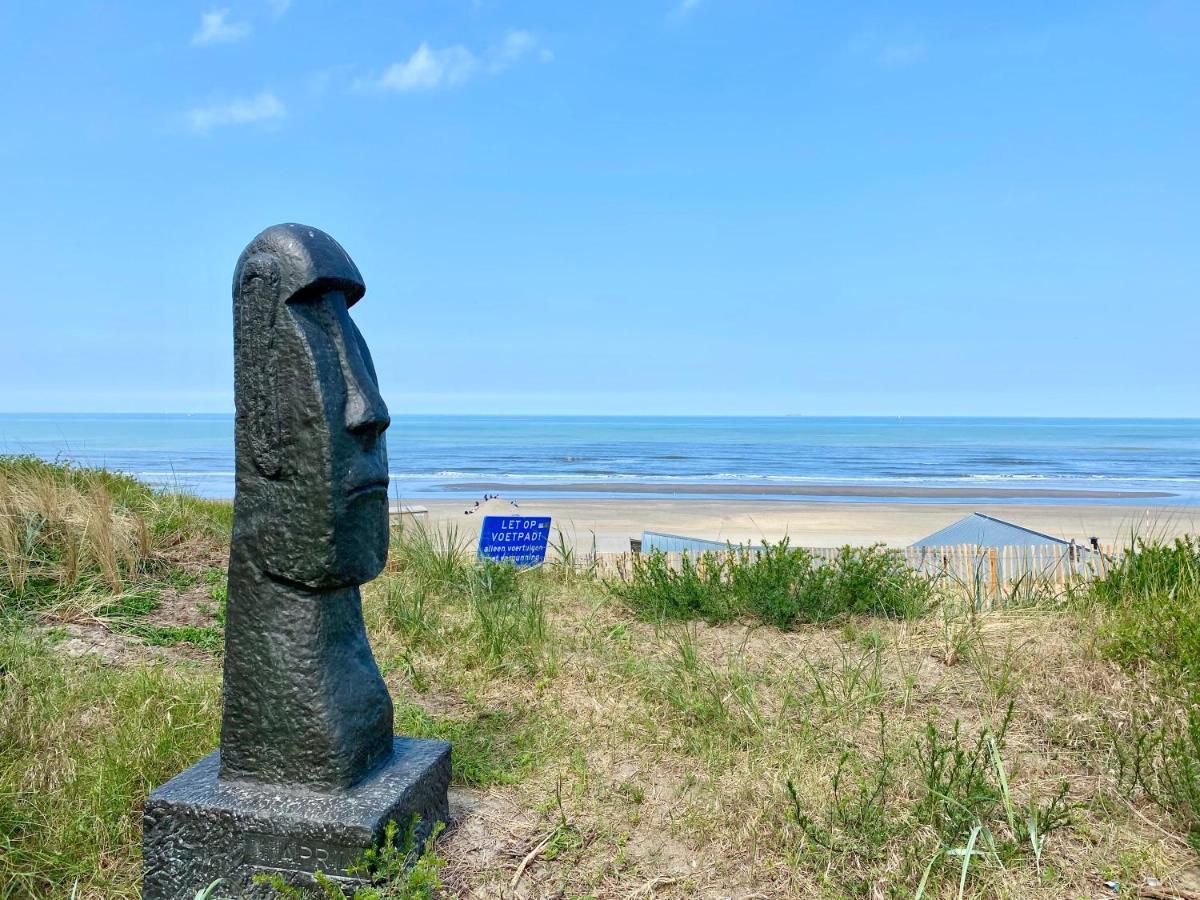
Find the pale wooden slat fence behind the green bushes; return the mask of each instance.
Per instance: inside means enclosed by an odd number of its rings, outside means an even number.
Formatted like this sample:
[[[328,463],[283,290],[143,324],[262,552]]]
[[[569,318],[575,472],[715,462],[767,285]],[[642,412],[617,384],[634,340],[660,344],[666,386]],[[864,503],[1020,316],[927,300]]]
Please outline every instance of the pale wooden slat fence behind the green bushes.
[[[840,547],[805,550],[826,563],[834,562],[841,552]],[[998,594],[1022,586],[1061,589],[1068,584],[1087,582],[1106,575],[1124,551],[1112,546],[1094,550],[1075,545],[973,547],[962,544],[947,547],[899,547],[890,548],[890,552],[900,554],[914,570],[929,577],[948,580],[977,593]],[[721,559],[727,554],[726,551],[709,556]],[[667,565],[678,571],[688,554],[662,556]],[[691,558],[696,560],[698,557]],[[629,580],[635,563],[636,557],[630,553],[595,553],[580,554],[572,560],[572,568],[596,577]]]

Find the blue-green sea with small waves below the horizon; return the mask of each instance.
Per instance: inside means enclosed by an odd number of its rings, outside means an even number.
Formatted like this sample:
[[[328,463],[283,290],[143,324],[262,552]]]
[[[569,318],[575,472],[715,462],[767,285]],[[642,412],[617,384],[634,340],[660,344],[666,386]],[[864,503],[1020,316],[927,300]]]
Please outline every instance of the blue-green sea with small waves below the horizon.
[[[232,414],[0,414],[0,454],[233,496]],[[810,499],[936,503],[895,492],[949,487],[956,502],[978,490],[980,503],[1146,503],[1039,496],[1049,488],[1200,503],[1200,419],[398,415],[388,456],[401,499],[478,497],[485,484],[502,496],[536,484],[541,497],[580,485],[629,497],[637,485],[642,498],[797,499],[794,486],[820,485],[834,488]]]

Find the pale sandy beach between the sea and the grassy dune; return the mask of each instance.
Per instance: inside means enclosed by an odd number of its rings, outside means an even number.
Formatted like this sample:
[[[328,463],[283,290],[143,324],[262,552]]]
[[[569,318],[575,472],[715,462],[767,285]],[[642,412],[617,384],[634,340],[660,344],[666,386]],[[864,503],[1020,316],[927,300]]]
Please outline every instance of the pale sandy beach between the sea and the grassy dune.
[[[550,515],[580,548],[629,550],[643,530],[733,542],[779,540],[809,547],[883,542],[905,546],[974,511],[1027,528],[1085,542],[1105,544],[1138,534],[1175,535],[1200,528],[1200,506],[1099,504],[830,503],[798,500],[538,499],[516,497],[527,515]],[[449,521],[478,534],[479,518],[464,516],[472,503],[413,500],[434,522]]]

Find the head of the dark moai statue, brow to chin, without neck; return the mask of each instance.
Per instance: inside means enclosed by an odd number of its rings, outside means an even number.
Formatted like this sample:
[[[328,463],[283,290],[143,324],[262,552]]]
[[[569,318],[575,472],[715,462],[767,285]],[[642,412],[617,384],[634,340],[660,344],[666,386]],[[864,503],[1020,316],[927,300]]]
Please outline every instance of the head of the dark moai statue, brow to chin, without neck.
[[[314,590],[388,557],[390,419],[349,316],[365,292],[341,245],[301,224],[268,228],[234,270],[234,545]]]

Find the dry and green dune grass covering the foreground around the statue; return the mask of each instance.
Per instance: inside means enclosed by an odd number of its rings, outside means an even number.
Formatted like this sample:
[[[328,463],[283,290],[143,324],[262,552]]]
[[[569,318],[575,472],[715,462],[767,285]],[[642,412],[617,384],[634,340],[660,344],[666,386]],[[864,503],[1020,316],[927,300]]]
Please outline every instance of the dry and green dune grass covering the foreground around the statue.
[[[76,576],[124,655],[62,650],[66,539],[28,557],[43,587],[5,582],[6,900],[137,896],[146,791],[217,740],[218,643],[148,655],[114,623],[172,628],[143,610],[174,582],[220,634],[223,581],[178,551],[221,515],[97,484],[114,530],[150,535],[118,586],[95,562]],[[454,742],[460,820],[424,881],[380,896],[1134,896],[1200,864],[1192,545],[989,611],[880,550],[816,575],[785,546],[712,587],[703,565],[649,570],[631,599],[468,544],[397,533],[364,589],[397,731]]]

